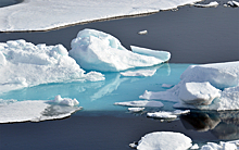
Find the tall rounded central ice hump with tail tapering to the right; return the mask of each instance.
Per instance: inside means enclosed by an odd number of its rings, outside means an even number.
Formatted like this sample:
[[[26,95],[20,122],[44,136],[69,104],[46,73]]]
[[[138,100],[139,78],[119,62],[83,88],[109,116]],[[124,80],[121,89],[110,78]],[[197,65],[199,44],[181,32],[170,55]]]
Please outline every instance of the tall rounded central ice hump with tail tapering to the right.
[[[80,67],[90,71],[118,72],[134,67],[152,66],[169,60],[169,52],[151,50],[138,54],[125,49],[115,37],[96,29],[80,30],[72,40],[70,55]]]

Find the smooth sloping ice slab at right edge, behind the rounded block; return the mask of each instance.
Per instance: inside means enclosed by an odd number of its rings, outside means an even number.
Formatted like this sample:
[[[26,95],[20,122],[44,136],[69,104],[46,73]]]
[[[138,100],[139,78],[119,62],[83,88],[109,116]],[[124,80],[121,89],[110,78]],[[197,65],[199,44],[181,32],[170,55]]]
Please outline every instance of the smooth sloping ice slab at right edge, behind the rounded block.
[[[218,89],[239,85],[239,61],[190,65],[180,76],[184,83],[209,82]]]

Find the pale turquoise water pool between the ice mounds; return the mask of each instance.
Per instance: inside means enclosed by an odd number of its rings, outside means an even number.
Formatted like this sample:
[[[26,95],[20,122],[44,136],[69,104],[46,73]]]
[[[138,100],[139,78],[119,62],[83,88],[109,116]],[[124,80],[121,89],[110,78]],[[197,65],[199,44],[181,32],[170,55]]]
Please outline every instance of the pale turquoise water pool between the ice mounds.
[[[0,96],[0,99],[52,100],[56,95],[62,98],[76,98],[84,111],[118,111],[126,108],[115,102],[139,100],[144,90],[163,91],[162,84],[176,85],[181,73],[190,64],[161,64],[152,77],[124,77],[120,73],[105,73],[102,82],[75,82],[39,85],[14,90]],[[172,110],[173,102],[163,102],[161,110]]]

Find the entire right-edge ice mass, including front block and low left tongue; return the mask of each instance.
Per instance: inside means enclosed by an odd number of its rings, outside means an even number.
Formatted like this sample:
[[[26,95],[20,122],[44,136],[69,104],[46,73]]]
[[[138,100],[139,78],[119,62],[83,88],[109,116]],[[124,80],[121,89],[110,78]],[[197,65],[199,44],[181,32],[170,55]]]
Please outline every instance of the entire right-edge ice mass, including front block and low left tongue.
[[[139,98],[178,102],[174,105],[175,108],[216,111],[239,109],[238,61],[190,65],[181,74],[180,79],[181,82],[178,85],[166,91],[152,92],[146,90]],[[197,99],[204,100],[199,102]],[[211,101],[212,99],[213,101]]]

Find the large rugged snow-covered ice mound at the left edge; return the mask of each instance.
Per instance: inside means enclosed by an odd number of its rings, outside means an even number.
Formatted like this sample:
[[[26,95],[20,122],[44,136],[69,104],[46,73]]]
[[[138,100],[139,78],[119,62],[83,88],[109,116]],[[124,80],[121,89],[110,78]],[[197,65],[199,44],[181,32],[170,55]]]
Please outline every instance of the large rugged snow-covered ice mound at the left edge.
[[[62,45],[46,46],[23,39],[0,42],[0,92],[39,84],[103,80],[101,73],[85,71]]]

